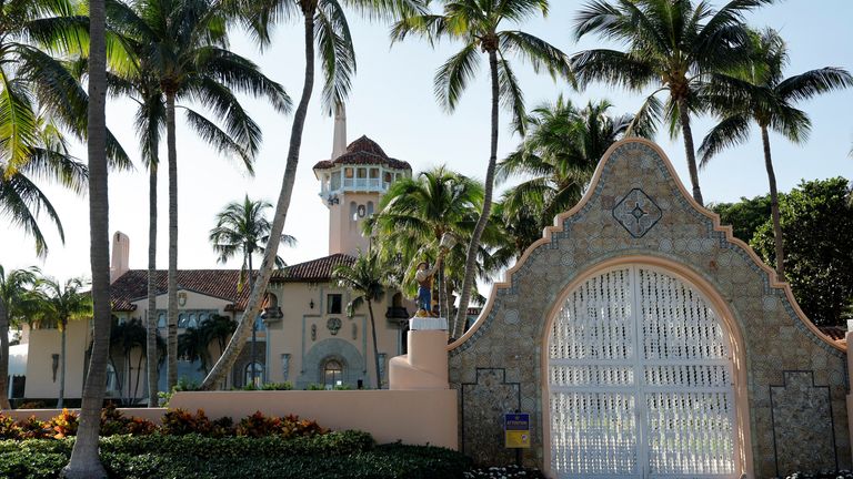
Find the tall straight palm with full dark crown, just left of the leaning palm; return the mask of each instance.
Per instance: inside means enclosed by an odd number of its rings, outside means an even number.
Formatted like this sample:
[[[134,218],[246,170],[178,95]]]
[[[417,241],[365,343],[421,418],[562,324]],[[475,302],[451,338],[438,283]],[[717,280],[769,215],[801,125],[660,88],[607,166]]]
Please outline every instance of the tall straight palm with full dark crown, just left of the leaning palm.
[[[234,91],[267,96],[280,112],[290,99],[250,60],[228,50],[225,11],[212,0],[110,3],[114,29],[129,44],[139,75],[153,77],[162,92],[169,160],[169,271],[168,335],[169,388],[178,381],[178,151],[175,102],[195,100],[224,122],[224,130],[197,111],[181,106],[187,122],[218,150],[240,157],[251,173],[261,131],[234,95]]]

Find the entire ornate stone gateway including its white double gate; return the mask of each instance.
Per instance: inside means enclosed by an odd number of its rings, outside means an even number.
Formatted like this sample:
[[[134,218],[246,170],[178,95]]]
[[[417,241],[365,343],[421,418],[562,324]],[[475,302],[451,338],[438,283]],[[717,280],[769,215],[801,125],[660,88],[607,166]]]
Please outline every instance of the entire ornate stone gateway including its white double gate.
[[[559,478],[772,478],[849,469],[846,347],[696,204],[654,144],[602,159],[448,347],[460,448]]]

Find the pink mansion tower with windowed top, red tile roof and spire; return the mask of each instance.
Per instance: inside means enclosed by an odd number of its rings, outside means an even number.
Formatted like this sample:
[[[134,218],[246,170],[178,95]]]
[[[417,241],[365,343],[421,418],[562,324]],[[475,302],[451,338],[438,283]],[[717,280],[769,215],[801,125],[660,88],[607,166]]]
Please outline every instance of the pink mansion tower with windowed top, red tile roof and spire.
[[[314,165],[314,175],[320,181],[320,197],[329,207],[329,254],[354,256],[370,246],[362,234],[363,221],[378,211],[391,183],[412,175],[412,167],[389,157],[367,136],[347,145],[347,113],[338,104],[332,156]]]

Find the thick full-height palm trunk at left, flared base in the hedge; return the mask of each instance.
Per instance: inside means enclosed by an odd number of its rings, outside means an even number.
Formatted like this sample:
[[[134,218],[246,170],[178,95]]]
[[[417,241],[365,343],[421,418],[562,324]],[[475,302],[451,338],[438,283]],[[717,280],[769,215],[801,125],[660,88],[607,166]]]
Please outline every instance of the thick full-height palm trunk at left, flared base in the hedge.
[[[104,1],[89,2],[89,257],[92,267],[92,355],[83,386],[80,426],[71,460],[62,470],[68,479],[106,478],[98,457],[98,432],[107,384],[110,350],[110,197],[107,183],[107,45]]]

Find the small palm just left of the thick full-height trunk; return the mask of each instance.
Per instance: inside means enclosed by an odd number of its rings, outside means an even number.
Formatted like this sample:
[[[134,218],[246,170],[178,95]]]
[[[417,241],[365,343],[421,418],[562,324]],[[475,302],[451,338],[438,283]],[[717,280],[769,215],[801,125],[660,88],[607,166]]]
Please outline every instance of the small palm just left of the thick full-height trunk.
[[[57,408],[62,409],[66,394],[66,335],[68,322],[83,319],[92,315],[92,296],[83,292],[83,281],[71,278],[61,285],[58,281],[43,277],[36,283],[41,303],[39,324],[50,325],[60,333],[59,398]]]

